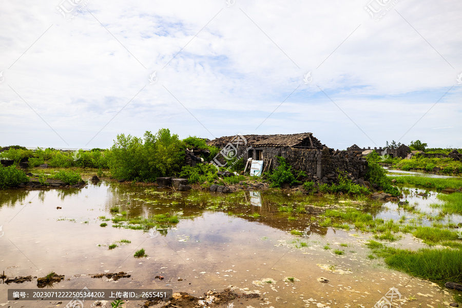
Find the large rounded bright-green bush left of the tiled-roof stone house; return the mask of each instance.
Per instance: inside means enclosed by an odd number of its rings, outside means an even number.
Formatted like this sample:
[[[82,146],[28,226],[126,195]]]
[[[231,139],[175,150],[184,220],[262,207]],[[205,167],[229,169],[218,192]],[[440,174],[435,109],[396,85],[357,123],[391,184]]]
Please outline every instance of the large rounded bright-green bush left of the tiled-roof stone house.
[[[141,138],[119,134],[108,153],[111,174],[117,179],[155,181],[158,177],[174,176],[184,162],[184,144],[178,135],[160,129]]]

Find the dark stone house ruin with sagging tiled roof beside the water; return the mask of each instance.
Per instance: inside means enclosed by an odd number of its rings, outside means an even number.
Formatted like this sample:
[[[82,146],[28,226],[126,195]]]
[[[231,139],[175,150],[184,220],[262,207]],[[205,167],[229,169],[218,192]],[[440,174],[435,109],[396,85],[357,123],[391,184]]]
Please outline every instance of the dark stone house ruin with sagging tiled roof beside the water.
[[[306,172],[309,180],[333,183],[339,172],[346,171],[353,180],[361,179],[367,172],[367,161],[360,151],[339,151],[326,147],[311,132],[298,134],[244,135],[221,137],[207,144],[222,151],[216,161],[224,165],[227,153],[232,157],[264,161],[263,168],[276,168],[277,156],[283,157],[296,170]],[[238,142],[236,142],[238,140]],[[227,151],[231,146],[235,152]],[[228,156],[229,158],[229,156]]]

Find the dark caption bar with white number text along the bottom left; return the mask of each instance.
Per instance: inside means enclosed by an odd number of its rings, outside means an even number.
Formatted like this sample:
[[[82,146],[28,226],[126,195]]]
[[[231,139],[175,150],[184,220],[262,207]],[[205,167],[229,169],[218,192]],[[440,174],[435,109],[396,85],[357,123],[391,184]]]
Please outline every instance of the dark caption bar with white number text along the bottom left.
[[[8,289],[8,300],[147,300],[167,299],[172,289],[62,289],[57,291],[37,291],[36,289]]]

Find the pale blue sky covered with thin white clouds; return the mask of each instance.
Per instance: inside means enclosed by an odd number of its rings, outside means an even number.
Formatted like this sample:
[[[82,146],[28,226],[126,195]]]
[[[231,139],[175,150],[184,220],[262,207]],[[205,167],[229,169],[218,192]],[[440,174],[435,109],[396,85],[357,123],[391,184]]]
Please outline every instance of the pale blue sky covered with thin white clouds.
[[[2,0],[0,146],[170,129],[462,147],[462,2]]]

